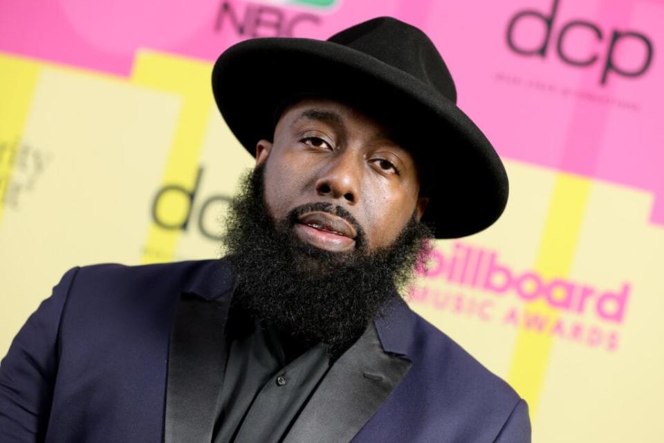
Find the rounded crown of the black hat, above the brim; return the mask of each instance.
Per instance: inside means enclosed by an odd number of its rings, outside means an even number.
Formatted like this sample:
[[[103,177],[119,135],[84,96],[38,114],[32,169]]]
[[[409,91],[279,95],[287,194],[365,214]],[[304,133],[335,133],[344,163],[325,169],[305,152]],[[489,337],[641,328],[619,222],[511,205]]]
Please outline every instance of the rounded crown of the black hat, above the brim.
[[[392,17],[378,17],[342,30],[328,42],[371,55],[457,102],[457,89],[443,57],[431,39],[415,26]]]

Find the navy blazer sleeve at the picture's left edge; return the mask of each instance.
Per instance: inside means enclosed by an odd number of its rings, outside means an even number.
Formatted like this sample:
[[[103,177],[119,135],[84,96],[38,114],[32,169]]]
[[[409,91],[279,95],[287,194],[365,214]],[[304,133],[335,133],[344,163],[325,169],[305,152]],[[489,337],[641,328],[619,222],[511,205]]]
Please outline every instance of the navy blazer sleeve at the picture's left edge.
[[[26,321],[0,363],[0,441],[41,442],[46,435],[57,374],[58,330],[71,269]]]

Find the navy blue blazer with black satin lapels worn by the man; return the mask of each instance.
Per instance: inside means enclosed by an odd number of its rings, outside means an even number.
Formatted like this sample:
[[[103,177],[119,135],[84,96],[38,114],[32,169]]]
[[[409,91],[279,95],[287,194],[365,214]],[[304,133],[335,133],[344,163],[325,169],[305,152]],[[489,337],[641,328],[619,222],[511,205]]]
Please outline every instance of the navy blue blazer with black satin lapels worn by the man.
[[[71,269],[0,365],[0,441],[210,442],[233,289],[224,260]],[[525,401],[405,303],[374,325],[380,359],[344,354],[286,442],[530,441]]]

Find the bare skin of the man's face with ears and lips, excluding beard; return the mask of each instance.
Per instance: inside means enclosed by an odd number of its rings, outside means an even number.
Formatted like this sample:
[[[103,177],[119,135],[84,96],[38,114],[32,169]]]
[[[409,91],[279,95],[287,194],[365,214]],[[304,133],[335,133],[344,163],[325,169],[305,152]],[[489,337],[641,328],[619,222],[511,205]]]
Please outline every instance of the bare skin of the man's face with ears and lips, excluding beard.
[[[256,145],[256,164],[263,163],[265,199],[275,219],[302,204],[341,206],[365,231],[369,251],[393,244],[427,204],[409,152],[385,126],[334,100],[286,107],[274,141]],[[340,253],[356,248],[355,229],[341,217],[313,212],[299,221],[295,233],[304,242]]]

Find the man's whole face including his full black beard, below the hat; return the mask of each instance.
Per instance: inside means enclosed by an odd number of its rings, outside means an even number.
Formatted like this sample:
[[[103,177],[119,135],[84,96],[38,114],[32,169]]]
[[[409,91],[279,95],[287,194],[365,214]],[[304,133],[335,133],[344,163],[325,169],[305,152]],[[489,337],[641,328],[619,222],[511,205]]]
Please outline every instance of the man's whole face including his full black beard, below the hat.
[[[297,102],[274,135],[225,219],[234,306],[336,358],[426,262],[426,200],[412,156],[347,105]]]

